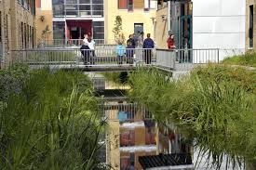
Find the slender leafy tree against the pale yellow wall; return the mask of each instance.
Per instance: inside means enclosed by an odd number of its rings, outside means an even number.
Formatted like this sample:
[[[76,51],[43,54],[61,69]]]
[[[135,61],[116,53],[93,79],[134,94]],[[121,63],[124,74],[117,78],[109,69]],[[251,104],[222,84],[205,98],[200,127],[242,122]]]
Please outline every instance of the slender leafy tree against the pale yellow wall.
[[[125,43],[125,35],[122,33],[122,18],[120,16],[115,17],[115,27],[113,28],[113,33],[115,35],[115,43],[121,42]]]

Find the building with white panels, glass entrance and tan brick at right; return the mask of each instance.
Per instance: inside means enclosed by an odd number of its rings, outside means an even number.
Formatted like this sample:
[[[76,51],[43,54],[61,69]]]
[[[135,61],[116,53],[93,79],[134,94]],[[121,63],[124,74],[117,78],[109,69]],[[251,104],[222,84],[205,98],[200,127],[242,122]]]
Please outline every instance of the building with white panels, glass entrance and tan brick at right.
[[[249,46],[249,28],[253,27],[253,18],[249,19],[249,11],[253,16],[251,3],[247,7],[246,31],[246,0],[158,0],[156,28],[160,33],[156,41],[166,48],[168,33],[172,33],[177,48],[220,48],[221,60],[243,52],[246,44]]]

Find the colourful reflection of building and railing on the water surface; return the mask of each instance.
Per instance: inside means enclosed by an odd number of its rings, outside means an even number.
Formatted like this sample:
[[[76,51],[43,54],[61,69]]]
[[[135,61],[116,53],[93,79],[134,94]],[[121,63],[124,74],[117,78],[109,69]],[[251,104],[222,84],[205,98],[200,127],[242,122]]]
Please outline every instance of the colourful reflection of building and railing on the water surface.
[[[139,156],[156,154],[152,114],[134,103],[108,102],[105,105],[110,125],[108,163],[115,169],[141,169]]]

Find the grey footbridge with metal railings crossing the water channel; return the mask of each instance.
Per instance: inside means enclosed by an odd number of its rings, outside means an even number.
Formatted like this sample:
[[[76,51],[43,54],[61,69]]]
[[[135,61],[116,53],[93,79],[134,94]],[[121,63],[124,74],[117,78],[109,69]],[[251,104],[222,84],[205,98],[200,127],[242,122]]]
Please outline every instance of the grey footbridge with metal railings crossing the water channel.
[[[138,67],[156,67],[171,72],[188,72],[198,65],[219,63],[221,50],[211,49],[141,49],[123,51],[117,57],[115,46],[96,48],[94,51],[80,48],[36,48],[13,50],[7,63],[28,64],[33,69],[78,69],[87,72],[133,71]],[[234,55],[234,54],[233,54]],[[232,55],[231,55],[232,56]]]

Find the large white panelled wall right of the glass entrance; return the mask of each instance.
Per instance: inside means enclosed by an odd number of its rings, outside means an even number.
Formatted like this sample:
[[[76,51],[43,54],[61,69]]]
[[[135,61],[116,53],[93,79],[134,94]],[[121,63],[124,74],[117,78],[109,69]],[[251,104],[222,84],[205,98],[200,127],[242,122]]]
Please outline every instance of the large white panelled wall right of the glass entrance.
[[[246,0],[193,0],[193,48],[244,50],[245,19]]]

